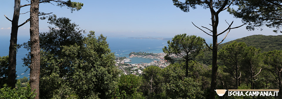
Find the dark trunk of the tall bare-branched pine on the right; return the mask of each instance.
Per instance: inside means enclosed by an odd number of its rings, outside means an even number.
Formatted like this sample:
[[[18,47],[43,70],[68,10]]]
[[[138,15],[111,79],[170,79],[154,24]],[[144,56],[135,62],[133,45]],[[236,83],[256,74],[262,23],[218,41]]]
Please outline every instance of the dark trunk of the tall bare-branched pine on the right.
[[[215,98],[215,88],[216,88],[216,75],[217,75],[217,26],[218,26],[218,14],[212,12],[212,79],[211,79],[211,89],[210,89],[210,99]]]

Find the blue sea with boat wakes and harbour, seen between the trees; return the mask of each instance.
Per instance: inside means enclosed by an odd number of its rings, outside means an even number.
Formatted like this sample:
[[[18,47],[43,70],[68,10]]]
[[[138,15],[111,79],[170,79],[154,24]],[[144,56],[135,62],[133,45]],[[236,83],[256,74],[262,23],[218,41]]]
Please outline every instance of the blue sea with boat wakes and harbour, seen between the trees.
[[[17,44],[23,44],[27,42],[29,36],[18,36]],[[157,39],[133,39],[128,37],[107,37],[107,42],[111,51],[118,57],[129,57],[130,52],[147,52],[147,53],[162,53],[162,48],[167,46],[167,40],[157,40]],[[10,36],[0,36],[0,56],[9,55],[9,45]],[[23,66],[22,58],[26,57],[30,50],[26,50],[23,47],[18,49],[17,52],[17,65],[16,65],[16,75],[19,78],[29,77],[29,69]],[[132,62],[135,63],[150,63],[152,60],[157,59],[146,59],[146,58],[130,58]],[[22,75],[21,75],[22,74]]]

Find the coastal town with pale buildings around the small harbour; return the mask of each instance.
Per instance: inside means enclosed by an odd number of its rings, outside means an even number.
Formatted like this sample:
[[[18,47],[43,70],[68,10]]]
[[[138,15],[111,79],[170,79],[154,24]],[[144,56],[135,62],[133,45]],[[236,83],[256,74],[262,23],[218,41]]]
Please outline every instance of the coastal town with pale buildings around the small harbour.
[[[135,55],[135,54],[129,54],[129,58],[146,58],[146,59],[156,59],[152,60],[150,63],[134,63],[131,64],[131,60],[127,57],[120,57],[116,59],[115,65],[119,67],[119,69],[122,70],[122,72],[125,75],[133,74],[136,76],[139,76],[143,73],[143,70],[147,68],[148,66],[158,66],[160,68],[165,68],[169,66],[170,63],[168,63],[166,60],[164,60],[165,53],[157,53],[153,55]]]

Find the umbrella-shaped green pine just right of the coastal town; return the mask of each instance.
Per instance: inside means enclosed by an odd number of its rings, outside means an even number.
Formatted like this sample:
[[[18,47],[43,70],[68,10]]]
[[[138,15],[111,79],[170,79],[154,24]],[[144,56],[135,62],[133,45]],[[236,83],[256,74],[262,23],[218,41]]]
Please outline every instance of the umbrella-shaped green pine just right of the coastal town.
[[[190,61],[194,61],[195,58],[203,52],[204,49],[204,39],[197,36],[187,36],[186,33],[179,34],[172,38],[172,41],[167,41],[168,47],[164,46],[162,49],[167,55],[164,59],[174,63],[175,61],[185,61],[186,62],[186,77],[188,76],[188,71],[190,68],[188,64]],[[180,58],[173,58],[172,55],[178,56]]]

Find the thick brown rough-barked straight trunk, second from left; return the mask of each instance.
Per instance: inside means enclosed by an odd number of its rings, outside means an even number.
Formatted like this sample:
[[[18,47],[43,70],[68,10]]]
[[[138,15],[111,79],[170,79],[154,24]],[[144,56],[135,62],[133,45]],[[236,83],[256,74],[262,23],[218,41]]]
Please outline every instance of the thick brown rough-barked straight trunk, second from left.
[[[39,74],[40,74],[40,47],[39,47],[39,0],[31,0],[30,6],[30,85],[31,91],[35,90],[39,99]]]

